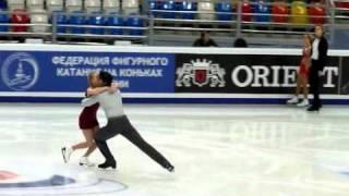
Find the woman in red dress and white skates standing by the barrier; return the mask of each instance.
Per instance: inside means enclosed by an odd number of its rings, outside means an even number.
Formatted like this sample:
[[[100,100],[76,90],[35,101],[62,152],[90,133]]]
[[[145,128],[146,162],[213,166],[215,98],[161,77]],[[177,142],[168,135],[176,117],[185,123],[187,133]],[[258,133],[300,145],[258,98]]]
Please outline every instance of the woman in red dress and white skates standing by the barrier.
[[[288,105],[297,105],[298,107],[308,107],[309,106],[309,99],[308,99],[308,75],[309,70],[311,66],[311,51],[312,51],[312,44],[311,44],[311,37],[309,35],[304,35],[304,48],[303,48],[303,57],[301,60],[301,64],[299,66],[298,73],[297,73],[297,88],[296,88],[296,95],[292,99],[288,100]],[[303,100],[299,100],[300,93],[303,93]]]

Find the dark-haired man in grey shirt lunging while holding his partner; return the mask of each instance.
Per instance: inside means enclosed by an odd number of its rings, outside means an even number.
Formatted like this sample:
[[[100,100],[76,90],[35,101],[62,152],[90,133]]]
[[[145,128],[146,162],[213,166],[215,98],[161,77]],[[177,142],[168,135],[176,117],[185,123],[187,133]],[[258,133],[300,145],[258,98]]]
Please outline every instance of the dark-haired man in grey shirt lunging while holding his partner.
[[[112,76],[108,72],[101,71],[99,73],[99,83],[101,86],[111,86]],[[100,152],[106,158],[106,161],[103,164],[99,164],[98,168],[117,168],[117,162],[109,150],[107,139],[121,134],[153,160],[158,162],[163,168],[170,172],[174,171],[174,167],[161,154],[147,144],[139,134],[139,132],[132,126],[128,117],[123,112],[122,98],[119,89],[113,94],[105,91],[97,96],[85,98],[83,99],[82,105],[83,107],[88,107],[95,105],[96,102],[99,102],[100,107],[106,113],[106,117],[108,118],[107,125],[95,134],[95,142]]]

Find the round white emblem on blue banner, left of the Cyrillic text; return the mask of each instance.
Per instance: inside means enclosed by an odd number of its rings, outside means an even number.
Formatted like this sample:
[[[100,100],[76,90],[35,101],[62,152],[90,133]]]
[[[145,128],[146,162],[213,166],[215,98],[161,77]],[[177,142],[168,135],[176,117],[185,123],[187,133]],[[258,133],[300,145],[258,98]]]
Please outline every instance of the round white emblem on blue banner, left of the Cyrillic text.
[[[39,75],[35,58],[25,52],[9,56],[1,68],[3,83],[11,89],[23,91],[32,88]]]

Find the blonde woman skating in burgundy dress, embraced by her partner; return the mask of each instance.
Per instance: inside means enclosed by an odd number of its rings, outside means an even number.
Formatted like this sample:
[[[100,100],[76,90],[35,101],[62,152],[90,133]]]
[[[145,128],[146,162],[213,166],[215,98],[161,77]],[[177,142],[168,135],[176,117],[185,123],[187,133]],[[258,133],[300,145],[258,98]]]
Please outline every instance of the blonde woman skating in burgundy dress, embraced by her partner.
[[[96,71],[91,72],[88,74],[89,87],[86,90],[86,97],[96,96],[107,90],[109,90],[110,93],[115,93],[117,90],[117,86],[115,84],[111,87],[97,87],[98,75],[99,73]],[[96,149],[96,144],[94,143],[94,135],[99,128],[99,123],[97,121],[98,108],[99,103],[96,103],[91,107],[85,107],[81,112],[79,118],[79,126],[85,136],[85,142],[75,144],[70,147],[62,147],[61,150],[65,163],[69,162],[70,156],[74,150],[87,148],[84,156],[80,159],[80,166],[94,167],[94,163],[92,163],[88,160],[88,156]]]

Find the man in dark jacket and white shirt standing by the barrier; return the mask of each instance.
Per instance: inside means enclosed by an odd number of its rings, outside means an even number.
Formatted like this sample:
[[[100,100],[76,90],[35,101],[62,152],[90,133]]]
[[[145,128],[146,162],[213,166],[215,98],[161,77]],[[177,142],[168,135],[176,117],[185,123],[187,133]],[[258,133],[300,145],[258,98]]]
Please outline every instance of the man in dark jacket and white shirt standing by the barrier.
[[[314,95],[313,105],[308,111],[318,111],[322,108],[320,99],[320,77],[323,75],[327,63],[328,42],[324,36],[324,28],[321,25],[315,26],[315,37],[312,42],[311,68],[309,72],[310,90]]]

